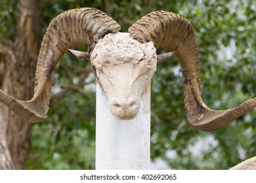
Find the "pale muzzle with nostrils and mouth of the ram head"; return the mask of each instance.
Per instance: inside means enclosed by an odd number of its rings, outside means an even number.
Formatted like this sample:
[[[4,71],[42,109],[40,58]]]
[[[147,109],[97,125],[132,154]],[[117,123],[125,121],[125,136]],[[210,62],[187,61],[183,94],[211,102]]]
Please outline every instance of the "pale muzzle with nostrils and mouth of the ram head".
[[[135,118],[139,112],[139,102],[130,97],[126,100],[114,100],[110,105],[110,111],[119,120],[131,120]]]

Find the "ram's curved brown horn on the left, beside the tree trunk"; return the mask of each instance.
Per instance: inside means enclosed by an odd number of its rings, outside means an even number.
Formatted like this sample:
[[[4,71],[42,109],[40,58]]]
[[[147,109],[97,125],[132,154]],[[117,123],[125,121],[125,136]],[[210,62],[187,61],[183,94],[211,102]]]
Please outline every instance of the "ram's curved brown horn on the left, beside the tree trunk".
[[[0,90],[0,101],[26,122],[47,118],[53,70],[68,48],[89,44],[90,52],[104,35],[119,30],[120,26],[115,20],[95,8],[63,12],[53,19],[43,37],[35,71],[33,98],[19,101]]]

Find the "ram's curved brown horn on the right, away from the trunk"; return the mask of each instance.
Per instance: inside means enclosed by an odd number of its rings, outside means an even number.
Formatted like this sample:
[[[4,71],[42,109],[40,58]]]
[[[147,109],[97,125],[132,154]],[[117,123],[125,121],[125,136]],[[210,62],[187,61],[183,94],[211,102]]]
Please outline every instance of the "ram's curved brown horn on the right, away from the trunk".
[[[140,42],[152,41],[156,47],[175,51],[182,67],[184,105],[190,125],[213,131],[256,107],[256,98],[228,110],[211,110],[203,103],[198,44],[193,27],[185,18],[172,12],[155,11],[133,24],[129,32]]]

